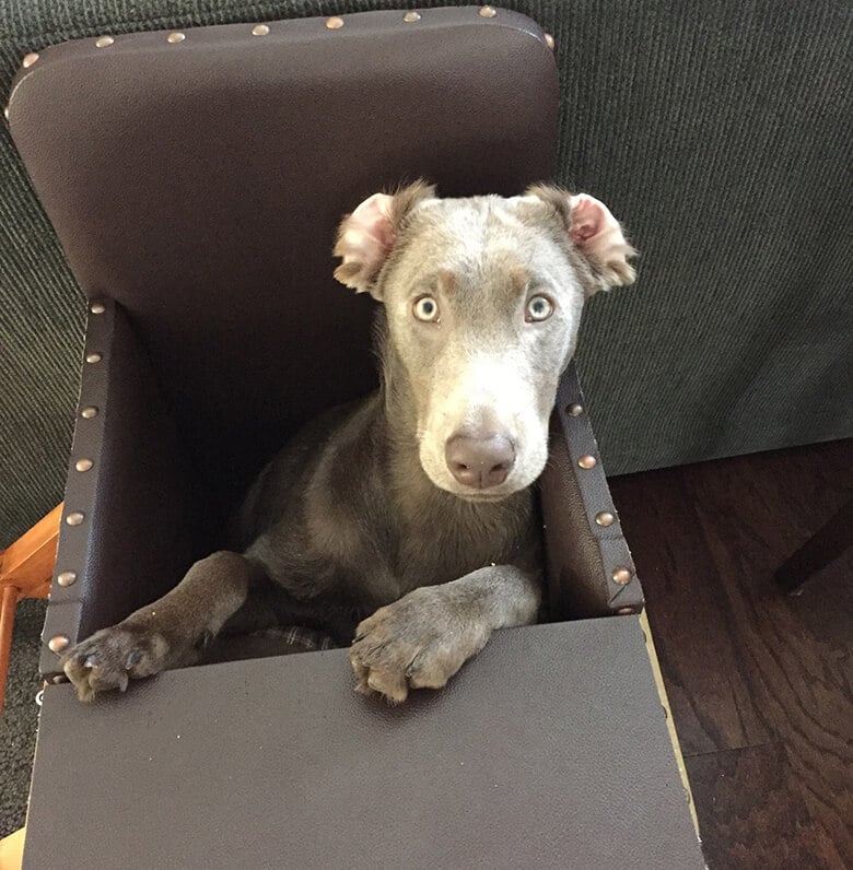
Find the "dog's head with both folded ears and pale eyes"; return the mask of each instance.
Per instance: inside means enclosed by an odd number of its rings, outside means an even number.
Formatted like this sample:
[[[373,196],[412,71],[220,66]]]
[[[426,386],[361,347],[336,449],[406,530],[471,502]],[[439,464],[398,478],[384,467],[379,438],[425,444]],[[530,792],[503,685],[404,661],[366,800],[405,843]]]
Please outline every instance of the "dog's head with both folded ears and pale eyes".
[[[419,183],[341,224],[336,278],[387,313],[432,482],[472,501],[528,486],[585,296],[633,281],[632,248],[584,195],[439,199]]]

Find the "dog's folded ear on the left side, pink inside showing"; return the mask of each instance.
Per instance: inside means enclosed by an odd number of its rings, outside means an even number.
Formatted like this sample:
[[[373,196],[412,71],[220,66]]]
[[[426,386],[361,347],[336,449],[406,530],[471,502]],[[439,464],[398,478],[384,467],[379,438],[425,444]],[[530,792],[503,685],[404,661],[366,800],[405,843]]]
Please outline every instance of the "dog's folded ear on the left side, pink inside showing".
[[[435,188],[416,181],[396,193],[374,193],[341,221],[335,256],[342,259],[335,278],[358,293],[379,298],[376,280],[394,250],[407,215]]]

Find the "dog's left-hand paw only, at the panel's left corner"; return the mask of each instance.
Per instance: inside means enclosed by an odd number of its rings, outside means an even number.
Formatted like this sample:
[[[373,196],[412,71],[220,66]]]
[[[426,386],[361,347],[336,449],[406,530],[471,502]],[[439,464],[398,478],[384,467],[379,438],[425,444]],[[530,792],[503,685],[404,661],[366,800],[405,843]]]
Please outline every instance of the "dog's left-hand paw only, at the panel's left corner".
[[[62,657],[61,665],[80,699],[92,701],[97,692],[124,692],[131,679],[159,673],[167,652],[168,644],[161,634],[119,623],[78,644]]]

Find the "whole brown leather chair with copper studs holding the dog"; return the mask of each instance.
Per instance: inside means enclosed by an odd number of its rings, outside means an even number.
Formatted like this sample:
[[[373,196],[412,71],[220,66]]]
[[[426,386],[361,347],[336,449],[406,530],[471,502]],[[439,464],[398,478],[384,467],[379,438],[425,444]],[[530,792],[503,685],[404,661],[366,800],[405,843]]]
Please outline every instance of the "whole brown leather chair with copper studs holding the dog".
[[[341,214],[424,176],[515,193],[554,167],[541,30],[372,12],[55,46],[10,125],[90,320],[42,668],[217,543],[294,427],[371,389]],[[553,622],[443,692],[357,696],[346,650],[45,691],[25,867],[701,867],[573,369],[541,483]],[[280,650],[284,651],[284,650]],[[238,657],[234,651],[233,658]]]

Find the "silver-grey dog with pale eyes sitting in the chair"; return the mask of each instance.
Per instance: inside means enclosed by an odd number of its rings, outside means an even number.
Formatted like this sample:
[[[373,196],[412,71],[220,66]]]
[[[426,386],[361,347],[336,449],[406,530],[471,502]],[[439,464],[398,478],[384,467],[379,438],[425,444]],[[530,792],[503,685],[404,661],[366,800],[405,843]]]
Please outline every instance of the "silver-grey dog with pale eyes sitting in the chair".
[[[439,199],[417,183],[341,224],[335,277],[379,307],[382,388],[311,423],[253,485],[232,550],[63,659],[82,699],[197,660],[236,624],[316,626],[361,692],[437,689],[537,620],[531,484],[584,297],[630,284],[607,208],[551,187]]]

